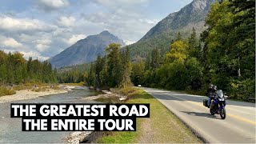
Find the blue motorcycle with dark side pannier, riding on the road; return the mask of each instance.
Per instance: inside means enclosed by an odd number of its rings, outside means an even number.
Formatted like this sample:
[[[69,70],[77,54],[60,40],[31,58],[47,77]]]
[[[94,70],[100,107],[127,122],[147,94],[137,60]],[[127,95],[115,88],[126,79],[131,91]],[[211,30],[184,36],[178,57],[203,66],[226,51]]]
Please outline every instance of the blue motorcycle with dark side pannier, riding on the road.
[[[211,96],[210,102],[210,114],[220,114],[222,119],[226,118],[226,98],[227,95],[223,94],[222,90],[216,90],[214,94]],[[203,106],[208,107],[208,99],[203,100]]]

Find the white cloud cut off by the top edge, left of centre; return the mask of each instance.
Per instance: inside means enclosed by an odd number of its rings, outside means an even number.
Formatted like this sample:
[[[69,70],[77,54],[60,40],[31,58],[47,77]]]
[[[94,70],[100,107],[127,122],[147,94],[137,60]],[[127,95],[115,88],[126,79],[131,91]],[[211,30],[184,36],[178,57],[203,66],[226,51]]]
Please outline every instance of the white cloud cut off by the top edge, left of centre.
[[[69,6],[70,3],[67,0],[39,0],[38,5],[43,10],[56,10],[65,6]]]

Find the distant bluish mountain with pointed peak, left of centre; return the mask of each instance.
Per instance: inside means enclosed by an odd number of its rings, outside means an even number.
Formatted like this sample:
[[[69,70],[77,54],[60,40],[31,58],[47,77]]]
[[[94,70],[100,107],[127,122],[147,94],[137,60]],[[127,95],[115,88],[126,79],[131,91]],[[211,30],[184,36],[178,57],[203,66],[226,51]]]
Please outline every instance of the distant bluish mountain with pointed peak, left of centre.
[[[49,61],[52,66],[58,68],[92,62],[96,60],[98,54],[104,54],[106,46],[110,43],[126,45],[121,39],[105,30],[100,34],[90,35],[85,39],[79,40],[60,54],[50,58]]]

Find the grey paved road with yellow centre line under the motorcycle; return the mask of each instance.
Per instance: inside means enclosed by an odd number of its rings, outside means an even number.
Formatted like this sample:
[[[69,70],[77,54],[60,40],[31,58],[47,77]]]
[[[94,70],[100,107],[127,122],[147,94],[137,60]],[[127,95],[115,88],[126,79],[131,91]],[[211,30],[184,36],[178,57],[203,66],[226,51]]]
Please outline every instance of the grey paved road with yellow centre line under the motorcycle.
[[[206,97],[142,88],[210,143],[255,143],[255,105],[227,100],[226,119],[210,115]]]

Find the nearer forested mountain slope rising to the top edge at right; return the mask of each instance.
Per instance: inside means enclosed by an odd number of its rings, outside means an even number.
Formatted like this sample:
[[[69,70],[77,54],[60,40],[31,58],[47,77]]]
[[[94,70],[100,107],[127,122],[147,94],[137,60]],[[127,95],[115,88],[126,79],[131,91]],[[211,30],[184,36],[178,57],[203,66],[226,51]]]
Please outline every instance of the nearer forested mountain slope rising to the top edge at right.
[[[162,21],[152,27],[138,42],[130,45],[132,58],[140,56],[145,58],[151,50],[159,48],[162,53],[170,49],[170,42],[180,32],[183,37],[188,37],[193,27],[199,34],[205,30],[206,15],[210,4],[216,0],[194,0],[178,12],[169,14]]]

